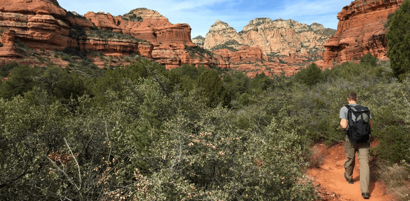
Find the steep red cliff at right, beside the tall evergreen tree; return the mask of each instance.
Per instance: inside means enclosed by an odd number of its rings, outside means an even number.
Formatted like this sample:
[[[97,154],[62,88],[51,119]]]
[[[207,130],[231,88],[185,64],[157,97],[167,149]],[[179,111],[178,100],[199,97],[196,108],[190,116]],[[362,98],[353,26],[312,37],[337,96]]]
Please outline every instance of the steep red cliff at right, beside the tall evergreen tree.
[[[325,67],[360,59],[367,53],[387,59],[385,24],[404,0],[358,0],[345,6],[337,15],[339,23],[334,37],[325,44]]]

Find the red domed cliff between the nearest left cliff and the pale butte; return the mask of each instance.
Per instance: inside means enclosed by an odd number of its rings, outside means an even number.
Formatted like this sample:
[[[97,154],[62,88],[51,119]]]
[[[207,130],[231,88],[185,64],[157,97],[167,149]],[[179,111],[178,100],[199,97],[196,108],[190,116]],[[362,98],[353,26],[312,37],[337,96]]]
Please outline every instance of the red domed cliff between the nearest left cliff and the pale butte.
[[[138,8],[123,16],[88,12],[85,17],[101,29],[125,33],[152,43],[151,58],[167,69],[182,64],[215,65],[216,60],[211,56],[187,50],[187,47],[195,47],[191,42],[191,27],[188,24],[173,25],[157,11]]]

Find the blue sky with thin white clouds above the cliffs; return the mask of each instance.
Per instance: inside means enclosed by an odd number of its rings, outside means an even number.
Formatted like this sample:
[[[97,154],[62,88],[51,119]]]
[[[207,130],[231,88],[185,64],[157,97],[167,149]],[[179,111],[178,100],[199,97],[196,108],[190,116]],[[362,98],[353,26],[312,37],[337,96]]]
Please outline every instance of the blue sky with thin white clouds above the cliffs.
[[[88,11],[122,15],[135,8],[156,10],[172,24],[187,23],[191,36],[205,35],[217,19],[241,31],[256,17],[293,19],[337,28],[337,13],[352,0],[57,0],[61,7],[84,15]]]

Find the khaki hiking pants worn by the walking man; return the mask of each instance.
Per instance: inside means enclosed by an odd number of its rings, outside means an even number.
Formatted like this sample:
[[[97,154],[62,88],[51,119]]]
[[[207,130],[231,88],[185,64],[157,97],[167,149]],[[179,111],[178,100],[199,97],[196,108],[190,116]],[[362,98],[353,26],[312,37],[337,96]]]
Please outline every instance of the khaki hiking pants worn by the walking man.
[[[370,140],[366,143],[357,143],[352,145],[347,136],[345,136],[344,151],[347,159],[344,162],[344,170],[347,178],[352,179],[353,169],[355,168],[355,153],[359,158],[360,164],[360,190],[362,193],[368,193],[368,184],[370,182],[370,168],[368,167],[368,155],[370,154]]]

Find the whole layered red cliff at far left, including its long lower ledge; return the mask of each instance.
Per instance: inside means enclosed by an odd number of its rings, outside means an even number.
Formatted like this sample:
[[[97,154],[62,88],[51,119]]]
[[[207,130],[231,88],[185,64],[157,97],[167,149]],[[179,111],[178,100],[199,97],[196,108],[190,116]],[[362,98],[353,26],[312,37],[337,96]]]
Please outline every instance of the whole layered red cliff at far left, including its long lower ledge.
[[[60,8],[55,0],[2,1],[0,59],[24,59],[16,47],[17,40],[37,50],[79,48],[107,55],[139,53],[152,58],[153,44],[120,37],[93,37],[90,36],[93,26],[87,18]]]

